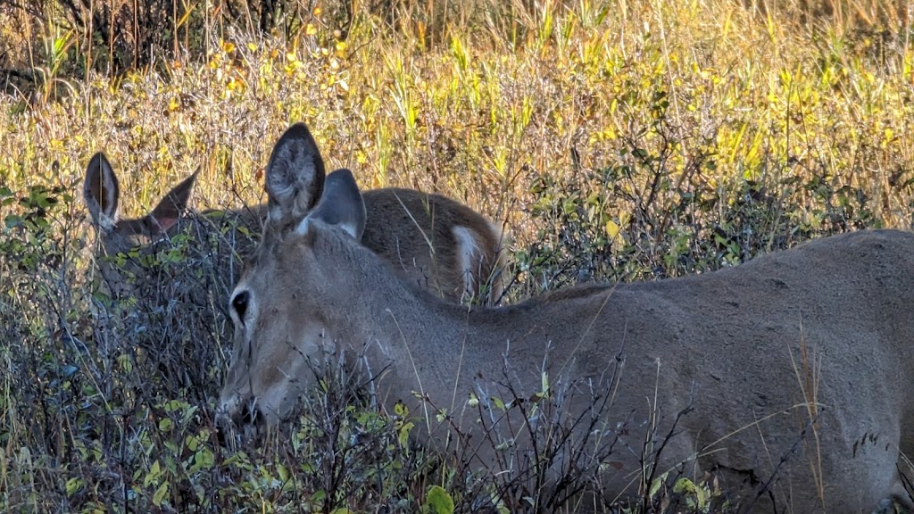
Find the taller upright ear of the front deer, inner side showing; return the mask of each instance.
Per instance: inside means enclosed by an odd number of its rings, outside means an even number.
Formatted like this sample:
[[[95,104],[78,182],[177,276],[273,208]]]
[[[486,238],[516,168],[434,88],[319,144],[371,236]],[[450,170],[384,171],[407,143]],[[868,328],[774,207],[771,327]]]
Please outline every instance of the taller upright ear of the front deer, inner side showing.
[[[266,169],[272,223],[302,220],[324,191],[324,159],[304,123],[295,123],[273,147]]]

